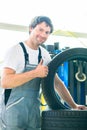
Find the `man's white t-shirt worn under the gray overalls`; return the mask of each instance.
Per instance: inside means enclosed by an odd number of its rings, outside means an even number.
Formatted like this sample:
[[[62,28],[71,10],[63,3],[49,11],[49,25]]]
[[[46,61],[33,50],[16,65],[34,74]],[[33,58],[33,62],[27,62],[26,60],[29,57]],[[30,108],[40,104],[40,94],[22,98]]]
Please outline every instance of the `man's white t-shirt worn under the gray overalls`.
[[[29,48],[25,43],[24,45],[27,53],[29,54],[29,63],[37,65],[39,50],[33,50]],[[41,46],[40,48],[41,48],[41,56],[43,59],[43,65],[47,65],[51,61],[49,52]],[[16,44],[7,51],[3,67],[8,67],[14,69],[16,73],[21,73],[24,69],[24,65],[25,65],[25,57],[23,49],[20,46],[20,44]]]

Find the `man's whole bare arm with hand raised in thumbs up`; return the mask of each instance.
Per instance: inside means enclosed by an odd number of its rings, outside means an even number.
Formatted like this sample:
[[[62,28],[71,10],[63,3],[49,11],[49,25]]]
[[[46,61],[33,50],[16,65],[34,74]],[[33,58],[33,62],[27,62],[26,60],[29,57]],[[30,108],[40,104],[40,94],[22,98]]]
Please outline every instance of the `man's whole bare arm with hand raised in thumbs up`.
[[[43,78],[48,74],[48,67],[42,65],[43,61],[31,71],[16,74],[11,68],[5,68],[1,77],[1,86],[3,88],[15,88],[20,86],[36,77]]]

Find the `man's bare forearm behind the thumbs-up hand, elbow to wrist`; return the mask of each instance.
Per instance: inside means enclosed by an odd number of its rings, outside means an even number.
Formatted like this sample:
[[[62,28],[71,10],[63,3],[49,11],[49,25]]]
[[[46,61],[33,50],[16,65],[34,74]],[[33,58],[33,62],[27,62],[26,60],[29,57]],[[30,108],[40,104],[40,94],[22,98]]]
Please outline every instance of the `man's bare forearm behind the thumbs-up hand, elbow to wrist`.
[[[1,86],[3,88],[15,88],[36,78],[37,76],[38,75],[35,70],[24,72],[21,74],[5,73],[1,78]]]

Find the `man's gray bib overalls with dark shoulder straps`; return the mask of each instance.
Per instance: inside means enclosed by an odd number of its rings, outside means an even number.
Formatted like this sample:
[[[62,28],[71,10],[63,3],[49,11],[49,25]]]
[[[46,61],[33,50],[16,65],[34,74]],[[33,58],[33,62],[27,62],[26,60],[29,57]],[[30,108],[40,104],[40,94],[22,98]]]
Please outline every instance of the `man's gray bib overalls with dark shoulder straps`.
[[[39,53],[39,61],[40,55]],[[27,56],[25,56],[26,60]],[[36,65],[31,65],[26,61],[23,72],[35,67]],[[8,101],[3,105],[2,130],[40,130],[40,102],[38,100],[40,81],[40,78],[35,78],[11,89]]]

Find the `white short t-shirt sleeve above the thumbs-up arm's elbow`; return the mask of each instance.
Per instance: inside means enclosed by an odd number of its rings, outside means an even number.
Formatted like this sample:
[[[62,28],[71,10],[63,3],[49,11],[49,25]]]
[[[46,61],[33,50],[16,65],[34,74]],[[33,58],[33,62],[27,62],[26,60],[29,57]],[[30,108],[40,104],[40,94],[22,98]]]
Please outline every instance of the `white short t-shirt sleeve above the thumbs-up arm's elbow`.
[[[3,68],[8,67],[17,71],[18,67],[21,64],[22,57],[20,56],[21,47],[15,45],[11,47],[5,54]]]

